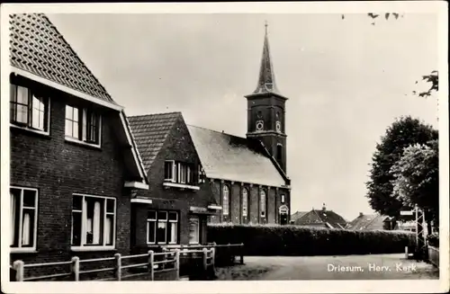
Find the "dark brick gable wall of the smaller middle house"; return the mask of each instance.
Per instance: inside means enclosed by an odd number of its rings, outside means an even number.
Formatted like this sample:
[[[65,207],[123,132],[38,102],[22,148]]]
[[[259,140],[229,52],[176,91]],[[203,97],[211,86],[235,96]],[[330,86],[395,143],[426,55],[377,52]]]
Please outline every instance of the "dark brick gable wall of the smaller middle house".
[[[147,248],[147,211],[148,209],[172,209],[178,211],[179,219],[179,235],[178,240],[180,244],[188,244],[189,242],[189,212],[190,206],[206,208],[209,204],[214,203],[214,197],[211,191],[211,184],[209,181],[205,183],[195,183],[199,185],[199,191],[189,189],[181,190],[179,188],[165,187],[164,183],[164,169],[166,160],[175,160],[184,162],[186,164],[194,165],[193,171],[196,173],[200,159],[197,156],[196,150],[193,147],[193,142],[189,131],[180,117],[173,126],[169,135],[166,138],[164,146],[157,154],[148,170],[148,191],[139,191],[139,197],[145,197],[152,200],[151,204],[133,204],[133,221],[135,222],[136,232],[134,236],[134,245],[136,247]],[[206,216],[201,216],[201,242],[206,241]]]

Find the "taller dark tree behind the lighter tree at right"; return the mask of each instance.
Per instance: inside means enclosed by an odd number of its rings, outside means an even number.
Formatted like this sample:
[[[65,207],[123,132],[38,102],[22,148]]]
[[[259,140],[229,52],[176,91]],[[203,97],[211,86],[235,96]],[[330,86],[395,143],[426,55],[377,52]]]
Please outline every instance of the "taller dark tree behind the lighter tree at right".
[[[403,206],[402,200],[394,197],[391,168],[401,159],[403,150],[410,145],[430,144],[437,140],[437,130],[413,119],[402,117],[392,123],[372,157],[370,180],[366,183],[370,206],[383,215],[397,218]]]

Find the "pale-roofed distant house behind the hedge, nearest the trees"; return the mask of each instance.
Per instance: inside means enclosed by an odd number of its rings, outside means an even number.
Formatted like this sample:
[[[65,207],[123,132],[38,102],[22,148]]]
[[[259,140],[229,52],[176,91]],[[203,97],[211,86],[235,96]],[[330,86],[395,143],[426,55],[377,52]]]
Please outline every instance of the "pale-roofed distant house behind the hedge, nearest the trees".
[[[392,230],[396,229],[395,219],[382,216],[380,214],[363,214],[359,213],[359,216],[347,224],[347,229],[350,230],[375,230],[375,229],[385,229]]]

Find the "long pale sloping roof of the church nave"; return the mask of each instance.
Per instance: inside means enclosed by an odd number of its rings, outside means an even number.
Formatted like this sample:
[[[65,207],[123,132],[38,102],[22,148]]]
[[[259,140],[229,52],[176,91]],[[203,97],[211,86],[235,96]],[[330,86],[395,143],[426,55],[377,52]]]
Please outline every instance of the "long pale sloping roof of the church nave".
[[[286,183],[257,141],[188,126],[208,178],[281,187]]]

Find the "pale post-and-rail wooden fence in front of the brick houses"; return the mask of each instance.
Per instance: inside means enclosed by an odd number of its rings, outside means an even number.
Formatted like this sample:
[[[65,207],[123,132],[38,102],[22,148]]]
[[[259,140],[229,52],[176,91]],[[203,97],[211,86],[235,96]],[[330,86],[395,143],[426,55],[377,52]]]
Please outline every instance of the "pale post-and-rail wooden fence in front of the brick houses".
[[[209,267],[214,268],[214,248],[203,248],[202,250],[189,250],[187,254],[202,254],[203,269],[207,270]],[[140,261],[139,261],[140,259]],[[142,263],[143,259],[147,261]],[[138,260],[138,262],[132,261]],[[112,262],[111,267],[98,266],[99,263]],[[94,268],[84,270],[83,266],[88,263],[94,263]],[[128,263],[128,264],[124,264]],[[58,272],[49,275],[39,276],[26,276],[26,269],[39,268],[39,267],[51,267],[67,265],[70,270],[68,272]],[[95,267],[95,265],[97,267]],[[155,281],[155,273],[160,272],[175,272],[175,280],[179,280],[180,273],[180,250],[165,251],[162,253],[155,253],[152,250],[148,251],[148,254],[135,254],[135,255],[121,255],[114,254],[112,257],[93,258],[80,260],[77,256],[73,256],[69,262],[56,262],[56,263],[23,263],[18,260],[13,263],[13,270],[15,272],[15,281],[42,281],[51,279],[52,281],[58,281],[58,279],[65,278],[64,281],[82,281],[83,276],[89,276],[89,274],[106,272],[110,273],[110,277],[103,279],[94,279],[96,281],[122,281],[131,278],[146,276],[149,281]],[[132,269],[135,269],[133,272]],[[140,269],[141,271],[136,271]]]

